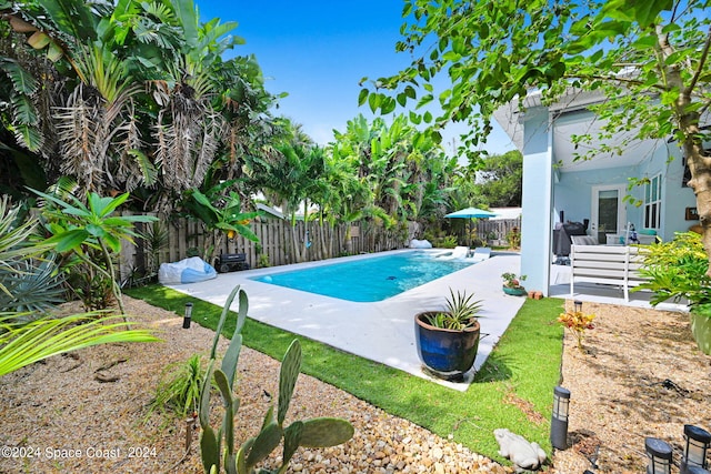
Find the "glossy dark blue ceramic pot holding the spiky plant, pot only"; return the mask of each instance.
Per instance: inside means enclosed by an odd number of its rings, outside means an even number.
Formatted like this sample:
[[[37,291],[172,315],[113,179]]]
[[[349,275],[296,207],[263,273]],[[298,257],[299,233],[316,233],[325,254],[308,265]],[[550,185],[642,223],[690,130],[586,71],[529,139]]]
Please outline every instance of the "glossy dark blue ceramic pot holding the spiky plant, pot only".
[[[444,380],[461,380],[474,365],[479,350],[480,324],[463,331],[434,327],[424,322],[431,312],[414,316],[414,332],[420,360],[428,372]]]

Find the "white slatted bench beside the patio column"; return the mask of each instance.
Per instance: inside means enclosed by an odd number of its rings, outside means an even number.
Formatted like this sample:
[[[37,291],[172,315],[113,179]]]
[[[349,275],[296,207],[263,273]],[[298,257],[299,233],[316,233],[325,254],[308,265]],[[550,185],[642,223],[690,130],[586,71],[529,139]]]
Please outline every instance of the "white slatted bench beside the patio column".
[[[630,301],[629,289],[645,281],[639,274],[643,256],[640,248],[628,245],[579,245],[570,251],[570,295],[575,283],[597,283],[620,286],[624,301]]]

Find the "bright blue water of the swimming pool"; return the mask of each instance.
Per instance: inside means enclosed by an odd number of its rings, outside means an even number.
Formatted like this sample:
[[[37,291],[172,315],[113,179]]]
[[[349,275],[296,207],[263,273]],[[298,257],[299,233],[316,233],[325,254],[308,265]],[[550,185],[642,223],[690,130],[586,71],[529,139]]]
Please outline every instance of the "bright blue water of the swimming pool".
[[[253,276],[263,283],[357,302],[381,301],[471,265],[404,252]]]

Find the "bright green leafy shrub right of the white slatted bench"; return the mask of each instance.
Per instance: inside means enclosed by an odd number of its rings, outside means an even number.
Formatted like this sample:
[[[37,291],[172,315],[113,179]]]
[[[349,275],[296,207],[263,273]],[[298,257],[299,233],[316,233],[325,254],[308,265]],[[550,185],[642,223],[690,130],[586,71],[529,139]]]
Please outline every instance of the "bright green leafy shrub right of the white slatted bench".
[[[644,262],[640,273],[649,281],[632,291],[652,291],[653,305],[670,299],[675,302],[687,299],[691,305],[711,303],[711,279],[707,275],[709,260],[701,235],[678,232],[669,242],[643,249]]]

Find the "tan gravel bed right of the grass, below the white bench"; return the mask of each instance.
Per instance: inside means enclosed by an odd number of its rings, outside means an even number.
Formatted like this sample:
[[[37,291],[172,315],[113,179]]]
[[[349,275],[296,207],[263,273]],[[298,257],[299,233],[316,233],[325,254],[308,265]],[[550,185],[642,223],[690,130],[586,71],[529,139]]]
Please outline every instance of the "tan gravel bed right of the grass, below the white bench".
[[[670,443],[678,462],[684,424],[711,431],[711,356],[693,342],[689,315],[593,303],[583,311],[598,317],[583,352],[565,334],[571,447],[555,453],[554,472],[644,472],[648,436]]]

